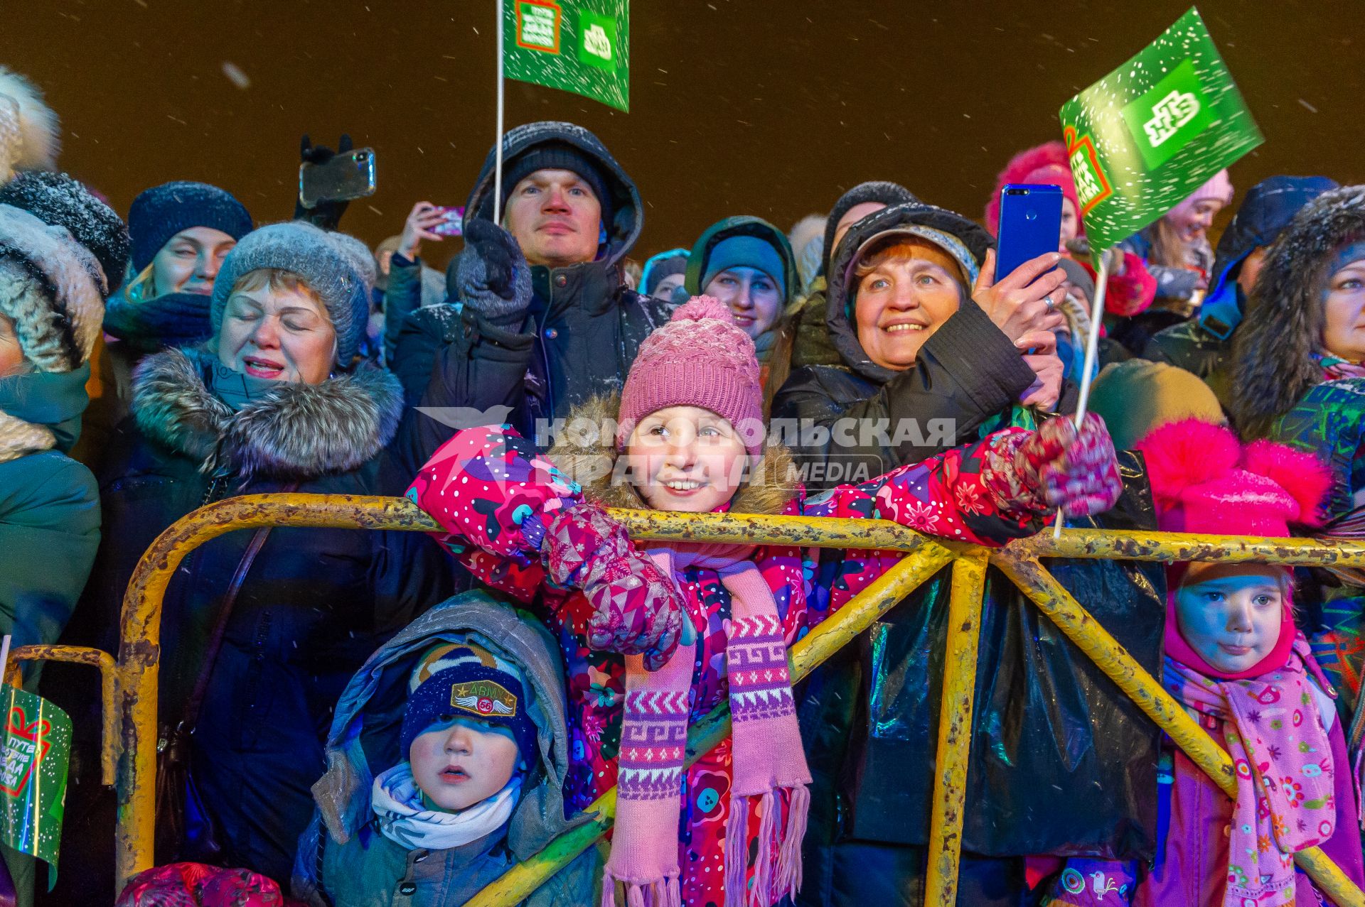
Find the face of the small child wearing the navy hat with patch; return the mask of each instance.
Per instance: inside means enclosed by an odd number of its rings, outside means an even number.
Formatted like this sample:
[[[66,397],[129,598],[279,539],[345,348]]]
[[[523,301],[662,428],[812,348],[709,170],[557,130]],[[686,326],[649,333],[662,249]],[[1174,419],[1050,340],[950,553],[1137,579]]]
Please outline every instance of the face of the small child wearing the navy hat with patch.
[[[412,780],[429,801],[450,813],[506,787],[517,758],[511,730],[474,717],[442,716],[408,749]]]

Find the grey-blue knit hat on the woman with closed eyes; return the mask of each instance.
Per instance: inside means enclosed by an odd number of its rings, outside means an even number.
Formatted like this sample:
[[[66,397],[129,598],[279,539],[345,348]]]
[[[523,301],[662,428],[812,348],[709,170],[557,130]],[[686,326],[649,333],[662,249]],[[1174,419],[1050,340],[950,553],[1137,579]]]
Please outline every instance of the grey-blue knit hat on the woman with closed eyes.
[[[259,269],[298,274],[322,299],[337,333],[337,364],[348,368],[370,318],[369,291],[336,240],[303,221],[269,224],[253,231],[222,259],[218,277],[213,281],[209,308],[213,336],[217,337],[222,327],[222,312],[232,288],[243,276]]]

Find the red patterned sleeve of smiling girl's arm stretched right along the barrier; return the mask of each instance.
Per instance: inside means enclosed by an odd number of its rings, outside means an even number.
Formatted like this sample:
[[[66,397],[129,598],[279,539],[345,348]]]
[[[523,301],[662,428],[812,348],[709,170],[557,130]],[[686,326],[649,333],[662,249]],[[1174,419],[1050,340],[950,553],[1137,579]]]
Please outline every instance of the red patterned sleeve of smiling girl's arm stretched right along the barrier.
[[[1033,432],[1006,428],[857,486],[839,486],[803,507],[808,517],[893,520],[925,535],[1002,546],[1037,532],[1046,509],[1014,469]]]

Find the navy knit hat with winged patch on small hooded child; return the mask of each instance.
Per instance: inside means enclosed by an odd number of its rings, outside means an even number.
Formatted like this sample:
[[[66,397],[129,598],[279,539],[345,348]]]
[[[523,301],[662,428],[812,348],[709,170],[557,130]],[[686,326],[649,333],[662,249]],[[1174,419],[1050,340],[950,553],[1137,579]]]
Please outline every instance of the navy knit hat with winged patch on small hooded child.
[[[536,764],[535,723],[527,713],[521,671],[474,642],[442,642],[418,660],[408,679],[408,708],[399,745],[408,757],[412,741],[452,717],[470,717],[512,731],[527,765]]]

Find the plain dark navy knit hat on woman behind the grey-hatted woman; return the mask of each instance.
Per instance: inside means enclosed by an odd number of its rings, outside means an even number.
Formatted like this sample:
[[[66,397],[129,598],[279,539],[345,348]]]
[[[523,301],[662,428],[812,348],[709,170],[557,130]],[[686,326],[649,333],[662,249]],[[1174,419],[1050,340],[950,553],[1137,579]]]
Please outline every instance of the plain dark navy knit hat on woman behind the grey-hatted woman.
[[[207,183],[153,185],[132,199],[128,209],[132,273],[141,274],[172,236],[191,226],[207,226],[242,239],[251,232],[251,213],[231,192]],[[121,277],[109,274],[109,284]]]

